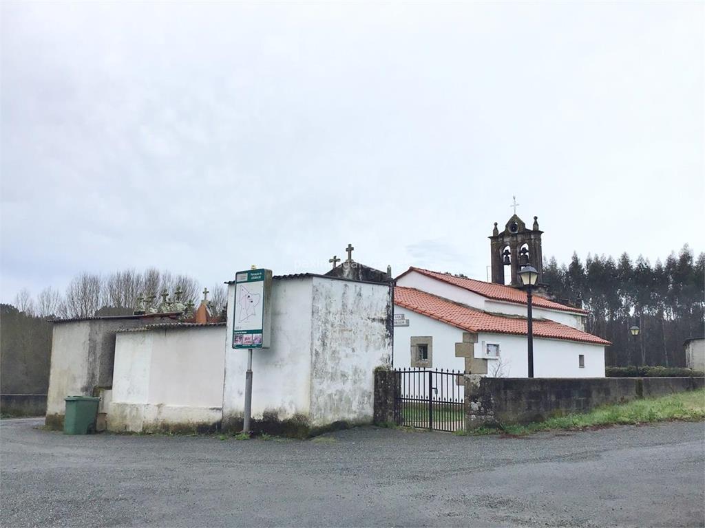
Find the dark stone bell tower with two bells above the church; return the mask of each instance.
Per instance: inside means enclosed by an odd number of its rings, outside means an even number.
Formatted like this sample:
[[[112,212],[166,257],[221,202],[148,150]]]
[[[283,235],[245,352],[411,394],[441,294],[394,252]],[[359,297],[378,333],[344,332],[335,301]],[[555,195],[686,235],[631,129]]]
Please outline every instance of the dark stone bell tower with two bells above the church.
[[[539,284],[544,279],[544,257],[541,254],[541,233],[538,217],[534,216],[534,225],[529,229],[524,220],[517,216],[516,210],[500,232],[497,222],[490,239],[492,251],[492,282],[504,284],[505,270],[509,266],[511,286],[522,286],[519,271],[522,266],[530,264],[539,272]]]

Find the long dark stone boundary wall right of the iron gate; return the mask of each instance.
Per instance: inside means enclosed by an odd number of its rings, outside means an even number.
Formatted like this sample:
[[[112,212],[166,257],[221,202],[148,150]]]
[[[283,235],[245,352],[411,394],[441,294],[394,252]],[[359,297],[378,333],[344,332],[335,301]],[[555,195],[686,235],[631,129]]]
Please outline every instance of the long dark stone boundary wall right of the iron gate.
[[[465,375],[465,425],[525,424],[608,403],[701,389],[705,378],[490,378]]]

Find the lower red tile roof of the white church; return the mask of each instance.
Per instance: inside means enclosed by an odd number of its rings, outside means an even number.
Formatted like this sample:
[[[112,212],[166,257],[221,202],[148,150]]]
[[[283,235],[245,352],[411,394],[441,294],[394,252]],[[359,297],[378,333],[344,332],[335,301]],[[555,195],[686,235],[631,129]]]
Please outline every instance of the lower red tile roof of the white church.
[[[394,288],[394,303],[429,318],[453,325],[467,332],[488,332],[490,334],[527,334],[527,320],[515,315],[497,315],[470,308],[446,298],[428,294],[414,288],[397,286]],[[582,332],[559,322],[547,319],[534,319],[534,336],[566,341],[581,341],[596,345],[609,345],[601,337]]]

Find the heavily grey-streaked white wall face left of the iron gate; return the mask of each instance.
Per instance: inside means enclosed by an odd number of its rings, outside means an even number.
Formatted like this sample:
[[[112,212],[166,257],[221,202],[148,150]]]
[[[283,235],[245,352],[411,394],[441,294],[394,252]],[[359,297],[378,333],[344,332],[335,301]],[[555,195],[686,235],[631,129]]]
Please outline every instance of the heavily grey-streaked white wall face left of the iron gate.
[[[319,277],[312,286],[311,425],[372,422],[372,372],[391,365],[391,290]]]

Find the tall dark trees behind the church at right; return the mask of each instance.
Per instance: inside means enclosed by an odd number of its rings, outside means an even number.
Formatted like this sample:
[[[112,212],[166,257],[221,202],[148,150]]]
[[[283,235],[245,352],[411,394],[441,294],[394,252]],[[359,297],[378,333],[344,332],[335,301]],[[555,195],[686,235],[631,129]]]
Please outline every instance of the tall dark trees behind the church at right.
[[[587,331],[612,342],[607,365],[683,367],[684,341],[703,337],[705,253],[695,258],[687,244],[654,265],[627,253],[616,261],[588,255],[584,263],[573,253],[568,265],[551,258],[544,282],[558,301],[588,310]]]

